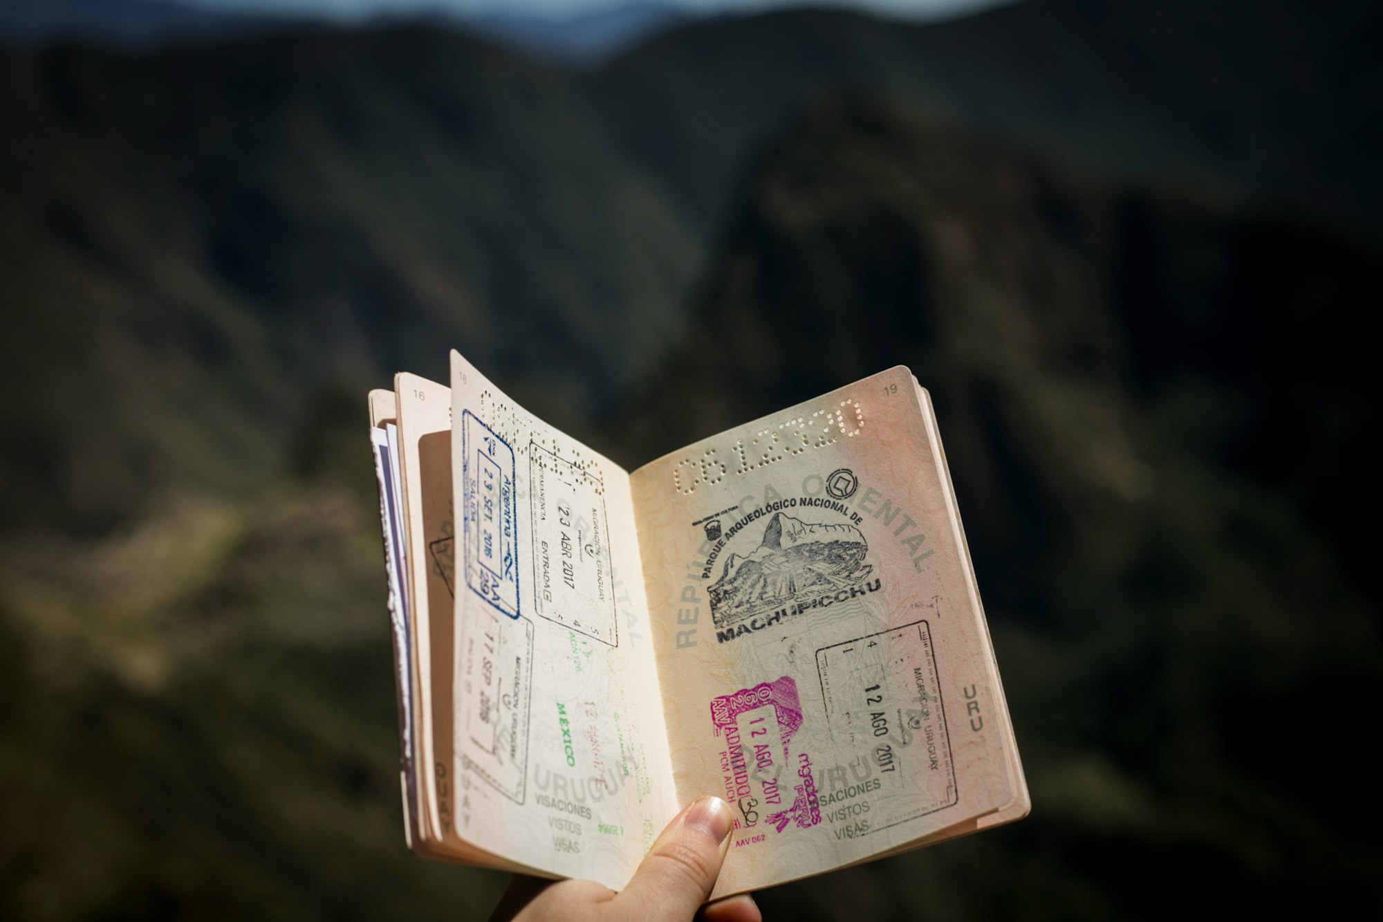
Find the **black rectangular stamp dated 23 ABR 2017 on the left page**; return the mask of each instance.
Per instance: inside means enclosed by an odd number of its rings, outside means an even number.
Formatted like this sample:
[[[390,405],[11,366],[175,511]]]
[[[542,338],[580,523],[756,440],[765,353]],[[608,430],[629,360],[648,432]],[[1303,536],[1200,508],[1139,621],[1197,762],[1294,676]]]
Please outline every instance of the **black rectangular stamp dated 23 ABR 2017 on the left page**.
[[[603,493],[586,468],[537,442],[528,444],[532,605],[548,620],[618,647]]]

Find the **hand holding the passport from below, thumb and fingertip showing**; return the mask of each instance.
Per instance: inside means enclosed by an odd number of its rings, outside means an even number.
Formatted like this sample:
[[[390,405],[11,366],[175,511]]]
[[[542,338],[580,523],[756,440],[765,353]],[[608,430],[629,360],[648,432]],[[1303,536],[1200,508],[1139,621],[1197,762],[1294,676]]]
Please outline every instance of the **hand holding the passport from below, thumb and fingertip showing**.
[[[595,880],[514,875],[491,922],[762,922],[748,894],[701,905],[730,851],[733,825],[723,800],[701,797],[674,817],[620,893]]]

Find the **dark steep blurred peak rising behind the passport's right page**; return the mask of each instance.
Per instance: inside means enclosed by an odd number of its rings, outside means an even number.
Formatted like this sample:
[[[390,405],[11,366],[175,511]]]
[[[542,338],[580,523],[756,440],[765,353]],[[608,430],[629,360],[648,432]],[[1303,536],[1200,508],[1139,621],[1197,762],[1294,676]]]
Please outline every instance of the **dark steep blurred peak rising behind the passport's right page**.
[[[1289,752],[1354,732],[1318,689],[1383,681],[1358,518],[1379,399],[1346,332],[1383,241],[1091,181],[849,94],[737,201],[607,439],[654,457],[910,365],[1034,804],[772,890],[765,915],[1164,918],[1184,892],[1153,871],[1247,912],[1376,911],[1379,810],[1335,808],[1368,764],[1324,745],[1307,771],[1329,784],[1303,784]]]

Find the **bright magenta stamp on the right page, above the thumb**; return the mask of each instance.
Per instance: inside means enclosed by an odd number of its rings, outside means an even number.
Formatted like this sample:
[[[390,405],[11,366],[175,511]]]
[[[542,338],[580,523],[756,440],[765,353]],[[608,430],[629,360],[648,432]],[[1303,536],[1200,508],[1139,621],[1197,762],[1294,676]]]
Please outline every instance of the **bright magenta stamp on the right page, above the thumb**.
[[[761,820],[777,832],[822,821],[812,759],[792,746],[802,703],[790,676],[711,699],[711,724],[725,739],[721,772],[737,829],[755,829]]]

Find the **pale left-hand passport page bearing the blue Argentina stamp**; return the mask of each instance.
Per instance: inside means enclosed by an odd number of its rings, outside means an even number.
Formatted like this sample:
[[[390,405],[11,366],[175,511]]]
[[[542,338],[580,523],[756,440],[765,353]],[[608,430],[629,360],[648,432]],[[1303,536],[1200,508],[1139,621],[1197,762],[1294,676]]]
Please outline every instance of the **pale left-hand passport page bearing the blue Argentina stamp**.
[[[628,473],[451,353],[456,831],[622,887],[679,804]]]

